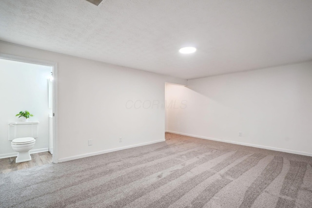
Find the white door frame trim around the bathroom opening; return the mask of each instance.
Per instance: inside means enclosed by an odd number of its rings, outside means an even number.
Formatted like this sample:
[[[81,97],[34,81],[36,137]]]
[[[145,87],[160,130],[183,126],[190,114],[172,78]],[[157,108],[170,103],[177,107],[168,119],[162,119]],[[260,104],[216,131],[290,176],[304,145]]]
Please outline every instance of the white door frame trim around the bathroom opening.
[[[58,140],[58,63],[46,60],[40,60],[29,57],[19,57],[8,54],[0,54],[1,59],[20,61],[26,63],[33,63],[45,66],[51,66],[53,72],[53,154],[52,154],[52,162],[59,162],[59,140]]]

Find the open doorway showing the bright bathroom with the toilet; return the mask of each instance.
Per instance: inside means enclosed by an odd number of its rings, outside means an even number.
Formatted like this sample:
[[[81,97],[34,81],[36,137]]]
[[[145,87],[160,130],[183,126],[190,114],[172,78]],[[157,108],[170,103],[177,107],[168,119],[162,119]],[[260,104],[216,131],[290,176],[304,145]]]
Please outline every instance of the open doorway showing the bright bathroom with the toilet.
[[[0,173],[57,163],[57,63],[0,54],[0,79]],[[25,111],[33,115],[26,122],[16,116]],[[31,130],[23,136],[20,127]],[[16,163],[12,135],[35,138],[30,161]]]

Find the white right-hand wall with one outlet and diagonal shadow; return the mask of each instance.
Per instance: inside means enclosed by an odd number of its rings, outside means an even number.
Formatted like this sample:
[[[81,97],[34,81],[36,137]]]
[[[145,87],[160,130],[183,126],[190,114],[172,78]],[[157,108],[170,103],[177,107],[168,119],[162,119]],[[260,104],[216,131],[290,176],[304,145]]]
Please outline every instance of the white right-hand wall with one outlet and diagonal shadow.
[[[170,85],[168,131],[312,156],[312,62]],[[238,133],[242,132],[242,136]]]

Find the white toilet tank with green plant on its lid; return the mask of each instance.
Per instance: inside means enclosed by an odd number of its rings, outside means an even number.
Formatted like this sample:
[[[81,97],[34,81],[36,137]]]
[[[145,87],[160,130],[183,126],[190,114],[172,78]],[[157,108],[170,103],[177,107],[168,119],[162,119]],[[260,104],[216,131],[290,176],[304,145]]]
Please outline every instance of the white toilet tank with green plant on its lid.
[[[20,137],[38,138],[39,121],[9,122],[9,140]]]

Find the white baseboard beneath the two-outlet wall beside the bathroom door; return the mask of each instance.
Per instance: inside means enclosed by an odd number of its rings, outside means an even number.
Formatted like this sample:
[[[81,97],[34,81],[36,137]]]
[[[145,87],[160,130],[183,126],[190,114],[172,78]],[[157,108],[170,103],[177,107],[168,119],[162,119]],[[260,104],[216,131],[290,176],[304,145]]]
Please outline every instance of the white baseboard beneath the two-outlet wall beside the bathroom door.
[[[58,160],[58,162],[61,163],[61,162],[65,162],[65,161],[76,160],[76,159],[80,159],[80,158],[84,158],[84,157],[90,157],[90,156],[95,156],[98,154],[104,154],[104,153],[113,152],[113,151],[125,150],[125,149],[129,149],[129,148],[140,147],[140,146],[155,144],[155,143],[164,142],[164,141],[166,141],[166,140],[165,139],[159,139],[159,140],[152,141],[152,142],[145,142],[145,143],[140,143],[140,144],[136,144],[136,145],[129,145],[129,146],[125,146],[125,147],[119,147],[119,148],[103,150],[103,151],[96,151],[96,152],[91,152],[91,153],[86,153],[86,154],[79,154],[79,155],[72,156],[72,157],[60,158]]]

